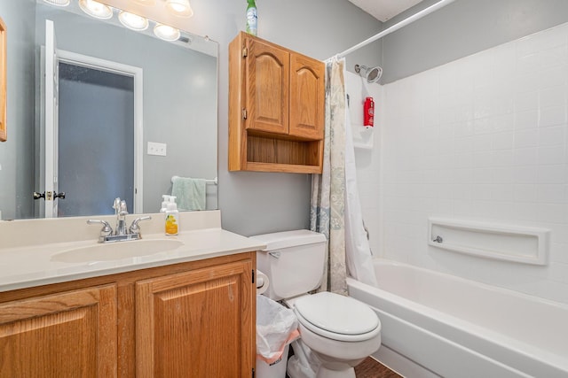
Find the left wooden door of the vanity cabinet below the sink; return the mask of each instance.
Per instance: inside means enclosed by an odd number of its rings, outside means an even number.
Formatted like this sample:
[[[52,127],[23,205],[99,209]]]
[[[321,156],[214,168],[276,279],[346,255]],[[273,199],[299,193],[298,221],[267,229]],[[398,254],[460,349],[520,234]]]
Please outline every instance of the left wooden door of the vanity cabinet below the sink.
[[[116,376],[116,289],[0,304],[0,377]]]

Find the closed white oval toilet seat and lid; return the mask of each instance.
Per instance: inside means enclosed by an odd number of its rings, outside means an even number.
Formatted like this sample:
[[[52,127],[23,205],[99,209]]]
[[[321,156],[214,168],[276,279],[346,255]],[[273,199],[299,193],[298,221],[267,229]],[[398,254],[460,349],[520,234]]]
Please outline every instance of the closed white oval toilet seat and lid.
[[[367,305],[327,291],[298,298],[294,312],[305,328],[337,341],[359,342],[381,332],[379,318]]]

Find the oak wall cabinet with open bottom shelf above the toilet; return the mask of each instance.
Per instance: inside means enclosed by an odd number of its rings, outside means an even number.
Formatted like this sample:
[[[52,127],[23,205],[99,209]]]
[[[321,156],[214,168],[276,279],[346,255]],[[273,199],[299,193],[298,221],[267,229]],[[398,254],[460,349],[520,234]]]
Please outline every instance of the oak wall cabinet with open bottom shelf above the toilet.
[[[246,33],[229,44],[229,170],[320,174],[323,62]]]

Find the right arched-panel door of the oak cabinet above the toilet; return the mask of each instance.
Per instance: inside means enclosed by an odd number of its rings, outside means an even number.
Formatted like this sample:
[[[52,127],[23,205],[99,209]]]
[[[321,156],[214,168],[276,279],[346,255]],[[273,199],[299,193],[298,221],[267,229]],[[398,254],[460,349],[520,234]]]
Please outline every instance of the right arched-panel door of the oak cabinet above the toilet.
[[[312,58],[290,56],[289,135],[323,139],[325,66]]]

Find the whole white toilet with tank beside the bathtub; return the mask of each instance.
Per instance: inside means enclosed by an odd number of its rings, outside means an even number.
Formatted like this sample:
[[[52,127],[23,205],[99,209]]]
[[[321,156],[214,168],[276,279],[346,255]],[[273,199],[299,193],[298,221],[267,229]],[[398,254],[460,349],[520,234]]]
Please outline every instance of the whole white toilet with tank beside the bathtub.
[[[284,300],[296,312],[304,344],[321,361],[316,376],[355,378],[353,366],[381,346],[381,322],[373,310],[351,297],[308,294],[322,279],[325,235],[296,230],[251,237],[266,244],[256,252],[256,266],[270,282],[264,295]]]

